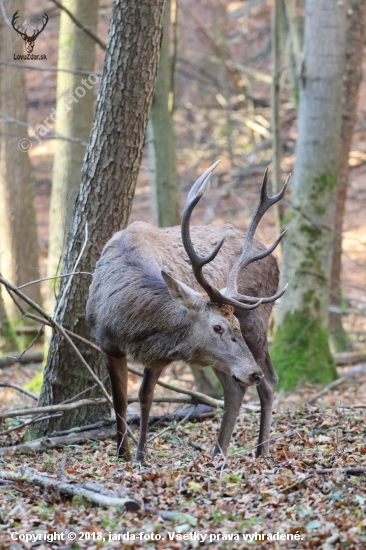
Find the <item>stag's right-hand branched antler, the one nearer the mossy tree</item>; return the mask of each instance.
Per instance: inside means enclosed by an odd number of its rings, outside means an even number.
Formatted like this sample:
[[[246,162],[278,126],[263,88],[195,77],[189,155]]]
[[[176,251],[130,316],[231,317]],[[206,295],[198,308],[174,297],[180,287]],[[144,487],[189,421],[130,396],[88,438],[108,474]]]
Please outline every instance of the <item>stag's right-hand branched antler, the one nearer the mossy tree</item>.
[[[279,200],[281,200],[282,197],[284,196],[284,194],[286,192],[288,182],[290,180],[290,174],[287,176],[285,184],[284,184],[283,188],[281,189],[281,191],[279,193],[277,193],[277,195],[274,195],[272,197],[269,197],[268,193],[267,193],[267,178],[268,178],[268,168],[266,168],[266,170],[264,172],[263,181],[262,181],[262,188],[261,188],[261,197],[260,197],[259,203],[257,205],[257,208],[255,210],[255,213],[254,213],[254,215],[251,219],[251,222],[249,224],[249,227],[248,227],[248,230],[247,230],[247,233],[246,233],[246,236],[245,236],[244,244],[243,244],[242,253],[241,253],[241,255],[239,256],[239,258],[237,259],[237,261],[235,262],[235,264],[233,265],[233,267],[230,270],[230,273],[229,273],[229,276],[228,276],[228,281],[227,281],[227,286],[226,286],[226,289],[225,289],[225,296],[227,296],[228,298],[237,300],[239,302],[245,301],[247,303],[248,302],[249,303],[258,303],[258,300],[259,300],[259,298],[257,298],[257,297],[246,296],[245,294],[239,294],[238,293],[237,279],[238,279],[238,275],[239,275],[240,271],[242,269],[244,269],[245,267],[247,267],[252,262],[255,262],[257,260],[261,260],[261,259],[265,258],[266,256],[269,256],[275,250],[275,248],[278,246],[278,244],[281,242],[281,240],[283,239],[283,237],[284,237],[284,235],[287,231],[285,229],[281,233],[281,235],[275,240],[275,242],[270,247],[268,247],[266,250],[262,250],[262,251],[259,251],[259,252],[254,252],[253,251],[252,242],[253,242],[255,231],[258,227],[258,223],[260,222],[263,215],[267,212],[267,210],[273,204],[276,204]],[[279,293],[280,295],[275,294],[273,296],[268,296],[267,298],[263,298],[261,300],[261,303],[273,302],[273,301],[277,300],[280,296],[282,296],[282,294],[285,291],[286,291],[286,287],[283,291],[281,291],[282,293]]]

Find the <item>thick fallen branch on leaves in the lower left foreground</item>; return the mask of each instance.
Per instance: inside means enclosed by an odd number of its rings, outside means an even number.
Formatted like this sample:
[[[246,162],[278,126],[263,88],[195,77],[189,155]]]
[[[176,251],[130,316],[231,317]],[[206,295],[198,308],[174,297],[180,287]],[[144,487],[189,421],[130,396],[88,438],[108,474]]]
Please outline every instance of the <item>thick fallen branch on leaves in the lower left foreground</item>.
[[[132,498],[120,498],[116,493],[113,493],[115,496],[103,495],[103,488],[101,488],[100,492],[91,491],[82,485],[58,481],[57,479],[43,475],[41,476],[39,474],[0,470],[0,479],[5,479],[7,481],[21,481],[23,483],[38,485],[39,487],[56,489],[60,493],[64,493],[66,495],[84,497],[90,502],[94,502],[100,506],[124,506],[124,508],[128,511],[140,510],[142,506],[141,502],[138,502]]]

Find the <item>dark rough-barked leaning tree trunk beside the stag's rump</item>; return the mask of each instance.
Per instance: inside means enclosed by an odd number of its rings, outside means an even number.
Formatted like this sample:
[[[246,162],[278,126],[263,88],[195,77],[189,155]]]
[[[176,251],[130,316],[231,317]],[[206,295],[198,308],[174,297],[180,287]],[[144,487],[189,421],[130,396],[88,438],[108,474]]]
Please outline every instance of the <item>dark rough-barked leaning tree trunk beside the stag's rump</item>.
[[[89,236],[79,269],[89,272],[107,240],[127,225],[154,89],[163,10],[164,0],[114,0],[90,144],[66,246],[65,273],[73,270],[80,254],[86,224]],[[57,317],[63,326],[87,338],[85,305],[90,282],[90,277],[76,276],[67,287],[66,279],[62,280]],[[78,347],[95,373],[105,376],[100,356],[79,343]],[[93,385],[67,343],[54,334],[39,404],[61,403]],[[100,391],[89,391],[86,396],[100,396]],[[70,411],[44,422],[37,432],[95,422],[108,412],[107,407],[99,409]]]

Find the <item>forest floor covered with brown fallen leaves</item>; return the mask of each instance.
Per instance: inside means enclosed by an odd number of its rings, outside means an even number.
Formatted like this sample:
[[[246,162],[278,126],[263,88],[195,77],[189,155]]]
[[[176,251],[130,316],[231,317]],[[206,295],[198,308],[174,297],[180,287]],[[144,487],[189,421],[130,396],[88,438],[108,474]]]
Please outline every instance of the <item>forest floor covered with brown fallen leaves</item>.
[[[31,366],[21,367],[15,379],[24,384],[34,372]],[[226,459],[211,455],[221,410],[202,422],[154,427],[150,436],[164,433],[149,444],[146,464],[117,460],[112,436],[27,454],[2,453],[0,470],[21,472],[23,480],[0,482],[0,548],[365,548],[366,372],[353,368],[343,369],[343,374],[340,386],[312,404],[308,402],[319,388],[311,385],[277,394],[270,455],[265,458],[254,458],[259,429],[254,389],[245,396]],[[191,387],[188,371],[177,376],[170,373],[163,379]],[[4,373],[0,381],[5,378]],[[132,376],[131,393],[136,393],[137,382]],[[10,389],[2,395],[1,410],[32,404]],[[152,412],[176,407],[154,405]],[[134,410],[130,406],[130,412]],[[21,441],[22,433],[15,432],[3,437],[2,445]],[[126,512],[123,507],[93,505],[84,497],[28,483],[32,473],[98,484],[143,507]],[[11,538],[54,532],[63,533],[65,540],[32,544],[30,539]],[[70,533],[76,534],[74,542]],[[271,540],[278,534],[298,538]],[[192,539],[198,535],[204,542]],[[268,539],[260,540],[262,535]]]

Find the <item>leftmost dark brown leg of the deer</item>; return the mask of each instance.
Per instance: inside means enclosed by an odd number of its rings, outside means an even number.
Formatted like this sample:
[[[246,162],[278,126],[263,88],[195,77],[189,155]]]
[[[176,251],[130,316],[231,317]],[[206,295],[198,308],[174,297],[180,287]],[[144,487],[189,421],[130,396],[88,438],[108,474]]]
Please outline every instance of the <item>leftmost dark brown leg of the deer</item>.
[[[112,386],[113,406],[117,423],[117,456],[127,461],[131,460],[131,453],[127,439],[127,359],[106,353],[109,378]]]

